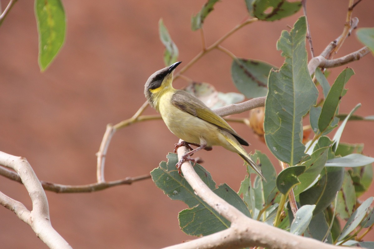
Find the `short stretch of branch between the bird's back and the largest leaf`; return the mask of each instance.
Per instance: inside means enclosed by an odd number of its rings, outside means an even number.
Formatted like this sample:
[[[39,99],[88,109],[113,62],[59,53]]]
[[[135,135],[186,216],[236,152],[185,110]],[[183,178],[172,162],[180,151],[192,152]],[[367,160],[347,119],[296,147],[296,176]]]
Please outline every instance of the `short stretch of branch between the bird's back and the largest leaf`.
[[[228,106],[217,108],[214,110],[214,112],[220,115],[221,117],[242,113],[257,107],[265,106],[265,100],[266,97],[258,97],[239,104],[231,104]]]

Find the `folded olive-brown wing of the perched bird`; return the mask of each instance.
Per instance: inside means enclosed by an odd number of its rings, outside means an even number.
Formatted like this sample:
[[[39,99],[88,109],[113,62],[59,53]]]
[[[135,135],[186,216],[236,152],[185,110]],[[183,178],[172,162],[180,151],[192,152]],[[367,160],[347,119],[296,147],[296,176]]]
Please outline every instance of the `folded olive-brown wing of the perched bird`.
[[[233,128],[230,127],[227,122],[213,112],[208,106],[206,106],[201,100],[197,99],[195,96],[187,93],[183,90],[177,90],[171,99],[171,103],[177,108],[190,113],[198,118],[209,122],[218,128],[221,128],[229,133],[231,133],[240,144],[248,146],[249,144],[242,137],[240,137]]]

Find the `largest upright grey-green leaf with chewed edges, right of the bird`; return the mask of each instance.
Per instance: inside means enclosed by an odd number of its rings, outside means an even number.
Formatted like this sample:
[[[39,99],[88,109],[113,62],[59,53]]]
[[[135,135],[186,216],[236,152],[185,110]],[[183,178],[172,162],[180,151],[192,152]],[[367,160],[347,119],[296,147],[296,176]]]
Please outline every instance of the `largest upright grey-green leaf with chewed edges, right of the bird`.
[[[305,49],[306,21],[302,16],[290,32],[283,31],[278,40],[285,63],[269,75],[265,102],[265,140],[271,152],[293,166],[306,154],[301,143],[302,118],[315,105],[318,90],[309,75]]]

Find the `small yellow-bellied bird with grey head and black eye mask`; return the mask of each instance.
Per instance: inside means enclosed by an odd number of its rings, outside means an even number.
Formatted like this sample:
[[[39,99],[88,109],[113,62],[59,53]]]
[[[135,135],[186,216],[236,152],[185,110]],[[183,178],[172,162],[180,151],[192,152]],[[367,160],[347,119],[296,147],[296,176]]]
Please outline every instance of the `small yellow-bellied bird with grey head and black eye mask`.
[[[212,150],[212,146],[222,146],[239,154],[261,178],[265,179],[260,167],[242,147],[249,146],[247,141],[197,97],[172,87],[173,72],[180,63],[175,62],[154,72],[144,86],[144,95],[149,105],[161,114],[169,130],[183,140],[175,144],[174,152],[180,146],[187,146],[190,149],[178,161],[178,172],[181,174],[183,162],[196,163],[195,159],[190,157],[193,153],[202,149]],[[198,147],[192,149],[190,145]]]

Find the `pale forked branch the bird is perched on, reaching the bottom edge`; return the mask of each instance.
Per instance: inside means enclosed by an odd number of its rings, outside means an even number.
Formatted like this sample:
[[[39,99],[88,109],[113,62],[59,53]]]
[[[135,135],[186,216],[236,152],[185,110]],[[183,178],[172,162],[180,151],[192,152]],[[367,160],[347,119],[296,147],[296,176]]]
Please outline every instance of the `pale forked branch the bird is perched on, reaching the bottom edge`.
[[[187,153],[186,147],[178,149],[178,158]],[[220,215],[231,222],[226,230],[199,239],[190,240],[179,245],[169,246],[167,249],[208,249],[208,248],[243,248],[262,246],[272,249],[344,249],[342,246],[329,245],[315,239],[291,234],[282,229],[252,220],[242,212],[217,196],[199,178],[189,162],[182,164],[181,170],[186,181],[194,192]]]

